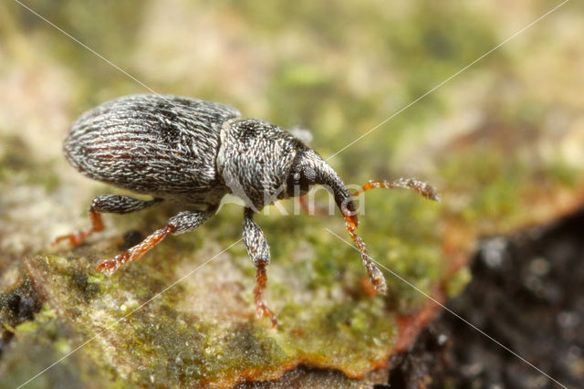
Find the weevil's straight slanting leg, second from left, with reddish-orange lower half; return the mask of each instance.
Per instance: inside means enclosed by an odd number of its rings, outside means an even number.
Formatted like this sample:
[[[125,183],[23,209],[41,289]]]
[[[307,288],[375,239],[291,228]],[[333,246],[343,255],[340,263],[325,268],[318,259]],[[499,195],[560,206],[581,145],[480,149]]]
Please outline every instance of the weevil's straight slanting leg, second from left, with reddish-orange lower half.
[[[98,266],[102,273],[111,274],[126,262],[138,260],[152,247],[162,242],[169,234],[183,234],[193,231],[203,225],[209,217],[214,215],[216,208],[207,211],[186,211],[169,219],[168,224],[154,231],[138,245],[131,247],[127,252],[117,255],[113,259],[106,259]]]

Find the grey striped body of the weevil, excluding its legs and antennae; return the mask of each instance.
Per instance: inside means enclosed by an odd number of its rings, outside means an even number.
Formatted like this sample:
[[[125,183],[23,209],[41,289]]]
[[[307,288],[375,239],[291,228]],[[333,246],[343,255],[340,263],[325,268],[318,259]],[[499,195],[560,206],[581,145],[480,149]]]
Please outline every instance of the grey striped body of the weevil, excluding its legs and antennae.
[[[316,152],[273,124],[241,119],[221,103],[176,96],[106,102],[73,124],[64,151],[89,178],[194,206],[215,207],[227,193],[255,210],[286,198],[298,152],[315,172],[332,172]],[[339,178],[335,184],[344,186]]]

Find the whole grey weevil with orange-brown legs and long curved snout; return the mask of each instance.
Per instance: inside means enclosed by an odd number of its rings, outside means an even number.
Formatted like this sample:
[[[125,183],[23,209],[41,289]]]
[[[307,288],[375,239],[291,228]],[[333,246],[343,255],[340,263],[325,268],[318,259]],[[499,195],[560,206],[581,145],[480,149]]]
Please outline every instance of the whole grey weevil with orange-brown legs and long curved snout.
[[[355,230],[353,198],[374,188],[412,188],[438,200],[433,188],[414,179],[370,181],[355,194],[317,152],[290,132],[266,121],[244,119],[233,107],[177,96],[132,95],[110,100],[82,114],[64,142],[68,162],[78,172],[131,192],[151,195],[145,201],[125,195],[99,195],[89,206],[91,226],[57,237],[77,246],[104,229],[101,214],[129,214],[162,201],[184,206],[166,226],[97,269],[113,273],[143,256],[168,235],[192,231],[214,215],[224,195],[245,202],[243,240],[256,272],[255,310],[276,326],[276,315],[263,298],[270,249],[254,215],[276,200],[306,195],[315,184],[334,197],[349,236],[360,250],[370,282],[384,293],[383,275]]]

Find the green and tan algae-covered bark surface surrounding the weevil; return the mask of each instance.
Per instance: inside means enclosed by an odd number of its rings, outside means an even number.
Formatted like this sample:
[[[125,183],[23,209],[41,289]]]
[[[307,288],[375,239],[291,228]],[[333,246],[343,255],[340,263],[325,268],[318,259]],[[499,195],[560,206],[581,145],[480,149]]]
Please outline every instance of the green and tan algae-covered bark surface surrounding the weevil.
[[[152,89],[310,128],[325,158],[547,11],[508,13],[493,2],[102,3],[91,12],[72,1],[30,6]],[[145,90],[16,3],[0,11],[1,386],[57,361],[27,385],[232,386],[297,365],[357,378],[406,349],[440,310],[420,290],[443,301],[464,288],[477,237],[546,223],[584,201],[574,59],[584,56],[584,31],[581,5],[570,2],[329,160],[348,184],[415,175],[443,198],[361,196],[358,231],[388,269],[387,296],[371,293],[359,253],[327,231],[348,238],[339,215],[276,207],[257,217],[272,249],[266,301],[276,330],[255,318],[255,272],[236,243],[235,205],[106,277],[95,271],[100,260],[177,210],[104,216],[106,231],[86,244],[50,247],[89,223],[93,196],[115,191],[75,173],[60,142],[83,110]],[[324,191],[316,197],[326,206]]]

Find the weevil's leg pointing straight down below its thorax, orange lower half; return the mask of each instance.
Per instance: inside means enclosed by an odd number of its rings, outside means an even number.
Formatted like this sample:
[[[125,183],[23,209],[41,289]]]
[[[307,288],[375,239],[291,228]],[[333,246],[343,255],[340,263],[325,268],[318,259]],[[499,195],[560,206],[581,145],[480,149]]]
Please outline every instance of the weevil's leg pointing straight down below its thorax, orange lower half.
[[[272,328],[275,328],[276,315],[267,308],[264,301],[264,289],[267,283],[266,266],[270,263],[270,247],[264,232],[254,222],[254,211],[251,208],[245,208],[243,237],[247,254],[255,266],[255,312],[258,318],[262,316],[270,318]]]

